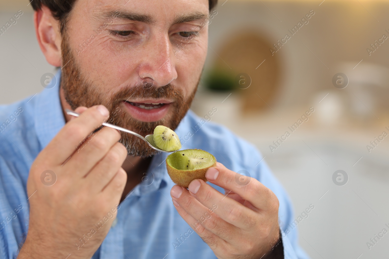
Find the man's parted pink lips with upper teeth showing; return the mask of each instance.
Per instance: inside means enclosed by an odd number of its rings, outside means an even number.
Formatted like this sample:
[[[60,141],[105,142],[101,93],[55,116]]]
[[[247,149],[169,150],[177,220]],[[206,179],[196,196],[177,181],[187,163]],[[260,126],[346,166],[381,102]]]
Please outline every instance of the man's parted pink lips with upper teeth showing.
[[[170,103],[166,100],[123,101],[123,103],[128,113],[142,122],[162,120],[170,109]]]

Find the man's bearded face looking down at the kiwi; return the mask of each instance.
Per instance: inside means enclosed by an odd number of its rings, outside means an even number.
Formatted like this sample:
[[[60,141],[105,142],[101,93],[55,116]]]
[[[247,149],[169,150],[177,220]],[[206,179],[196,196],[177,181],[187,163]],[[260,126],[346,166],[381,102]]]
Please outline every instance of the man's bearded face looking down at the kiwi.
[[[207,55],[208,0],[77,0],[62,35],[61,87],[73,107],[103,104],[110,122],[145,136],[175,129]],[[122,133],[129,154],[153,149]]]

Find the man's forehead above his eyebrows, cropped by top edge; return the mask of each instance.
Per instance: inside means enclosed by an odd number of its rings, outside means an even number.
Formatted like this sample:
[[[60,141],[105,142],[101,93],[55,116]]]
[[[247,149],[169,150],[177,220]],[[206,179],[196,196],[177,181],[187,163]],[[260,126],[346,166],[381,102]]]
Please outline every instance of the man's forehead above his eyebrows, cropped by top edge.
[[[106,19],[115,14],[119,19],[130,15],[144,18],[145,23],[163,20],[185,22],[185,16],[197,15],[198,19],[209,14],[209,0],[78,0],[74,9],[87,14],[91,19]],[[142,17],[138,17],[142,19]],[[180,19],[184,18],[182,21]]]

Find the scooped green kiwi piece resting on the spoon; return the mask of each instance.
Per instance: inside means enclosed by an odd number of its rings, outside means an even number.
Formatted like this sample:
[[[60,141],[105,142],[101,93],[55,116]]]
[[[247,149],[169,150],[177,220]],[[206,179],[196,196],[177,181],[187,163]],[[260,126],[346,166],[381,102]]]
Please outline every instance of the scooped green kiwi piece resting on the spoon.
[[[155,127],[153,140],[158,148],[165,151],[176,151],[181,148],[181,142],[177,134],[163,125]]]

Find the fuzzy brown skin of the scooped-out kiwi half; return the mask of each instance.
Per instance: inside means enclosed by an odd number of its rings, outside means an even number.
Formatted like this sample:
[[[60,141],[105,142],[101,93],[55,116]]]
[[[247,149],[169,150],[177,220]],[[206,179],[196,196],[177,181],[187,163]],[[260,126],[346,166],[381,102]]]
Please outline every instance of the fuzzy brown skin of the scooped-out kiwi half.
[[[216,163],[217,162],[215,161],[213,165],[197,170],[179,170],[168,165],[168,162],[166,161],[166,169],[168,170],[168,174],[173,183],[188,188],[191,181],[195,179],[202,179],[205,182],[208,181],[207,178],[205,178],[205,173],[210,167],[215,167]]]

